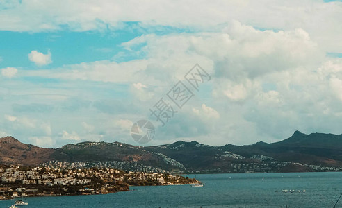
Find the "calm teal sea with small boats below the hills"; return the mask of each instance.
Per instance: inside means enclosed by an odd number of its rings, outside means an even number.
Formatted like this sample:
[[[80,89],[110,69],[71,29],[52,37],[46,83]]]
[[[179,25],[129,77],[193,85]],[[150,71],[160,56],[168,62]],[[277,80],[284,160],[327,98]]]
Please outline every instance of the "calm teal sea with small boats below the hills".
[[[342,172],[184,176],[196,177],[204,187],[130,187],[106,195],[34,197],[24,207],[334,207],[342,193]],[[0,201],[0,207],[14,201]],[[336,207],[342,207],[342,198]]]

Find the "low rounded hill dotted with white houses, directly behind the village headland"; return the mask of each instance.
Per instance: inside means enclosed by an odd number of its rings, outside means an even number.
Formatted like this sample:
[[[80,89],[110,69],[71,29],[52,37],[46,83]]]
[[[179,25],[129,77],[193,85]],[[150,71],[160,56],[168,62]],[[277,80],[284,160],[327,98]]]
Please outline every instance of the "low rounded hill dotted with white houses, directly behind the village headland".
[[[68,144],[51,154],[54,160],[61,162],[123,162],[134,166],[154,167],[168,171],[181,171],[184,166],[161,153],[147,151],[142,146],[133,146],[119,142],[82,142]],[[112,163],[112,165],[114,165]],[[120,168],[115,166],[115,168]]]

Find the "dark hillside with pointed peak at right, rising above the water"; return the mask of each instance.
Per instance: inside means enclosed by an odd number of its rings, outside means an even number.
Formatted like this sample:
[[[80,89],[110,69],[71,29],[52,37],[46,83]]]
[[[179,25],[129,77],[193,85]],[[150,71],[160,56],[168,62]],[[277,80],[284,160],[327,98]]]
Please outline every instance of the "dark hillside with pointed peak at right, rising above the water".
[[[192,171],[220,168],[222,172],[234,172],[236,169],[234,166],[252,163],[261,163],[259,166],[262,166],[265,171],[281,169],[288,171],[289,168],[284,168],[280,162],[342,167],[342,146],[339,146],[340,144],[342,144],[341,135],[320,133],[305,135],[296,131],[288,139],[273,144],[261,141],[247,146],[227,144],[215,147],[205,146],[196,141],[177,141],[174,144],[152,146],[146,149],[168,155]],[[293,164],[288,164],[288,166],[291,169]],[[255,171],[255,169],[258,168],[245,168],[246,171]],[[307,170],[307,168],[303,169]]]

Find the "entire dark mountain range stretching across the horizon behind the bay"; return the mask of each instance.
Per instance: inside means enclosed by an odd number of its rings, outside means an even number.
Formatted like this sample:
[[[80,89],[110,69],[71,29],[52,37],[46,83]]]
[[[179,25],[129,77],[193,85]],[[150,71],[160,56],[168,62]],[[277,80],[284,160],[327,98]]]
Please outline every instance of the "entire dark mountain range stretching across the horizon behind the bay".
[[[177,141],[142,147],[119,142],[82,142],[56,149],[3,137],[0,164],[180,173],[342,171],[342,135],[306,135],[296,131],[288,139],[272,144],[261,141],[245,146],[208,146],[197,141]]]

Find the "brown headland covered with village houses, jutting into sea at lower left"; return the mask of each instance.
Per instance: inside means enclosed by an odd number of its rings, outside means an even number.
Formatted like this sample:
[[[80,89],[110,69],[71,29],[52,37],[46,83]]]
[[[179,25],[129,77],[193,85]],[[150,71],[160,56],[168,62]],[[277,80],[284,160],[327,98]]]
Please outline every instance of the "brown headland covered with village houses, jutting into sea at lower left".
[[[195,179],[169,173],[119,171],[112,168],[0,168],[0,200],[19,196],[63,196],[128,191],[129,185],[193,184]]]

